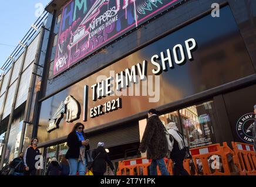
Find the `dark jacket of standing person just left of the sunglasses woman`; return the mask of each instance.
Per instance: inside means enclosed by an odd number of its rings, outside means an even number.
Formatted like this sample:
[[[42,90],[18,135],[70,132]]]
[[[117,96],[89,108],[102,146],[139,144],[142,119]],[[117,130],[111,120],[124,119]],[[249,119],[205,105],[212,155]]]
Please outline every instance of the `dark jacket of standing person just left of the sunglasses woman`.
[[[26,148],[23,160],[25,167],[29,167],[30,171],[35,169],[35,164],[37,161],[39,161],[39,157],[36,159],[37,155],[40,155],[38,148],[33,148],[32,146]]]

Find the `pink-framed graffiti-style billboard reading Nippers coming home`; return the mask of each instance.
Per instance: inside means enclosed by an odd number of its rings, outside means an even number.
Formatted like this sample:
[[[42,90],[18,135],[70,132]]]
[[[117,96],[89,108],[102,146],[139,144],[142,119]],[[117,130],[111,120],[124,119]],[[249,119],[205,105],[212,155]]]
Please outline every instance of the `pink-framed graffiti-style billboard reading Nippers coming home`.
[[[63,7],[53,75],[180,0],[72,0]]]

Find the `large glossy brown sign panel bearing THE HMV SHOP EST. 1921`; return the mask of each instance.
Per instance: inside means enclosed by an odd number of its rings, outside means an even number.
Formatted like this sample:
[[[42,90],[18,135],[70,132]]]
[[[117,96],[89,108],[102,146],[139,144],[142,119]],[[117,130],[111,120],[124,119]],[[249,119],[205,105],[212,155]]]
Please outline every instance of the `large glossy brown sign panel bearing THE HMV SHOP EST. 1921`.
[[[225,6],[221,12],[223,16],[220,19],[211,15],[204,16],[44,100],[38,127],[39,141],[66,136],[78,122],[85,124],[85,131],[94,131],[121,120],[133,120],[135,116],[146,115],[150,108],[171,106],[171,103],[183,102],[183,99],[186,101],[186,98],[197,93],[253,74],[250,56],[230,8]],[[229,23],[229,27],[224,27],[225,23]],[[230,55],[237,44],[240,48],[236,48],[238,51]],[[237,68],[241,65],[244,68]],[[79,74],[84,71],[81,69]],[[134,72],[137,76],[134,76]],[[123,79],[119,77],[122,74]],[[66,81],[64,75],[60,80]],[[48,84],[49,93],[51,89],[55,90],[53,86]],[[73,123],[61,120],[59,130],[47,133],[48,120],[52,119],[68,95],[80,103],[80,118]],[[99,109],[100,105],[103,108]],[[122,106],[122,109],[118,106]],[[208,114],[205,111],[198,113]],[[206,120],[207,117],[202,118],[202,122]],[[210,124],[208,127],[204,125],[201,124],[200,129],[197,127],[190,130],[192,132],[197,129],[191,134],[194,136],[193,141],[198,140],[196,146],[202,142],[201,137],[197,137],[200,130],[211,128]],[[211,141],[207,139],[208,135],[203,142]]]

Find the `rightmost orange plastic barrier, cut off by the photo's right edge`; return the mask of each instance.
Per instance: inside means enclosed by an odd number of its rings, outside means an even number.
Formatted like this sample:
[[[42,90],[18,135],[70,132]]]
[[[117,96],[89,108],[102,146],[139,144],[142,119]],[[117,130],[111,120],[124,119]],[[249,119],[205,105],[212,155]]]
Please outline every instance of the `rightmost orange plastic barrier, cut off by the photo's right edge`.
[[[256,175],[256,154],[253,145],[232,142],[234,160],[238,165],[240,175]]]

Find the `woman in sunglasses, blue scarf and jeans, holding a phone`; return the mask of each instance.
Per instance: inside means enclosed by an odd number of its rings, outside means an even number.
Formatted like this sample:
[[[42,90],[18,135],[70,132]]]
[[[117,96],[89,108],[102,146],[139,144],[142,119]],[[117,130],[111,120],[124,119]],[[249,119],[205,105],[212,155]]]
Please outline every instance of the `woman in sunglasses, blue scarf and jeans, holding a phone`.
[[[90,149],[89,140],[86,140],[86,135],[83,131],[85,126],[82,123],[76,123],[73,130],[68,135],[69,150],[65,155],[68,159],[70,173],[69,175],[85,175],[86,159],[85,151]]]

